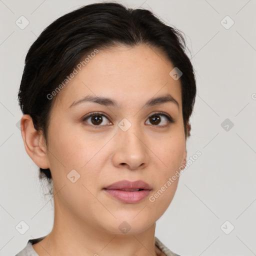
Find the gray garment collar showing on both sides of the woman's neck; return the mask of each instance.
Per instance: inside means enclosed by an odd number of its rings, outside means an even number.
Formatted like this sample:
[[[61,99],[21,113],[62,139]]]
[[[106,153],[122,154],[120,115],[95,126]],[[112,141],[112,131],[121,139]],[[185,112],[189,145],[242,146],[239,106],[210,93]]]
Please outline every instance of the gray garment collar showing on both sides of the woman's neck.
[[[46,235],[45,235],[46,236]],[[39,256],[32,247],[32,244],[39,242],[45,236],[28,240],[26,246],[18,252],[15,256]],[[164,244],[160,242],[157,237],[154,237],[155,245],[166,255],[166,256],[179,256],[178,254],[169,250]]]

